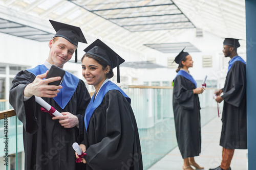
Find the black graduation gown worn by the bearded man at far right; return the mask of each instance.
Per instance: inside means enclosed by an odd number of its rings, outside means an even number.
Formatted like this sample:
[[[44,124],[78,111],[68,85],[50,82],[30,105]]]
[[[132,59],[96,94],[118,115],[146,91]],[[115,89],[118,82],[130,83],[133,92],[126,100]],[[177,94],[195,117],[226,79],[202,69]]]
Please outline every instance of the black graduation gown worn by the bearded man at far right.
[[[236,61],[228,71],[222,98],[220,145],[226,149],[247,149],[246,68]]]

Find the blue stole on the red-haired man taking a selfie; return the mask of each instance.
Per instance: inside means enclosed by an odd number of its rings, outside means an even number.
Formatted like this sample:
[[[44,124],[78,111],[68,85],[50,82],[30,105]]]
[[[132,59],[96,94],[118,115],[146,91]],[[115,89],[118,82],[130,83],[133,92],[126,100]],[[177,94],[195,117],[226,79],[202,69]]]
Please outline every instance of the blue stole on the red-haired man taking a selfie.
[[[28,69],[27,71],[31,72],[33,75],[41,75],[44,74],[47,70],[49,70],[44,64],[37,65],[35,68]],[[61,83],[62,88],[59,89],[57,96],[53,98],[53,100],[64,109],[66,105],[69,103],[70,99],[72,98],[77,85],[79,83],[79,79],[74,75],[70,74],[66,71],[63,81]]]

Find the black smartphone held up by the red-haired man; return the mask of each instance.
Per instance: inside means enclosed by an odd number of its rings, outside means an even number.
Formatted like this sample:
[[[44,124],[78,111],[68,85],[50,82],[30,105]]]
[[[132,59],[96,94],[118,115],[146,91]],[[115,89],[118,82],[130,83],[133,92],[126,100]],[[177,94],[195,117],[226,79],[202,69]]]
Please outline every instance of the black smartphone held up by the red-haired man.
[[[48,85],[55,85],[55,86],[60,85],[62,83],[65,73],[66,73],[65,70],[63,70],[55,65],[52,65],[48,72],[48,75],[46,76],[46,79],[51,78],[51,77],[58,77],[58,76],[61,77],[61,79],[58,81],[55,81],[55,82],[48,83]]]

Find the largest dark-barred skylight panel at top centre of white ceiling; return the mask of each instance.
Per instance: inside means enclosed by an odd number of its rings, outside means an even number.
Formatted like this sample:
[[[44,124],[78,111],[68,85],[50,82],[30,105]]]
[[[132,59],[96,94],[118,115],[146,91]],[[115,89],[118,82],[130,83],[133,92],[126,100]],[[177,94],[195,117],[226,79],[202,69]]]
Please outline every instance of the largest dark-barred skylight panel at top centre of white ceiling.
[[[195,28],[170,0],[70,2],[131,32]]]

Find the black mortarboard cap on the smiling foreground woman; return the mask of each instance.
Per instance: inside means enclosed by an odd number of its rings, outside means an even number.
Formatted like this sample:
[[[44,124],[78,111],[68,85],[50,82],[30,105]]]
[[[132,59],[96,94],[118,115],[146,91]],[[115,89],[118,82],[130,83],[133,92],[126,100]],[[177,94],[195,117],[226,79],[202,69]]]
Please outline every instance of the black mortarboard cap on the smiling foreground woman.
[[[122,59],[108,45],[106,45],[100,39],[96,39],[83,51],[104,60],[111,66],[111,68],[117,67],[117,82],[120,83],[119,64],[122,64],[124,59]]]

